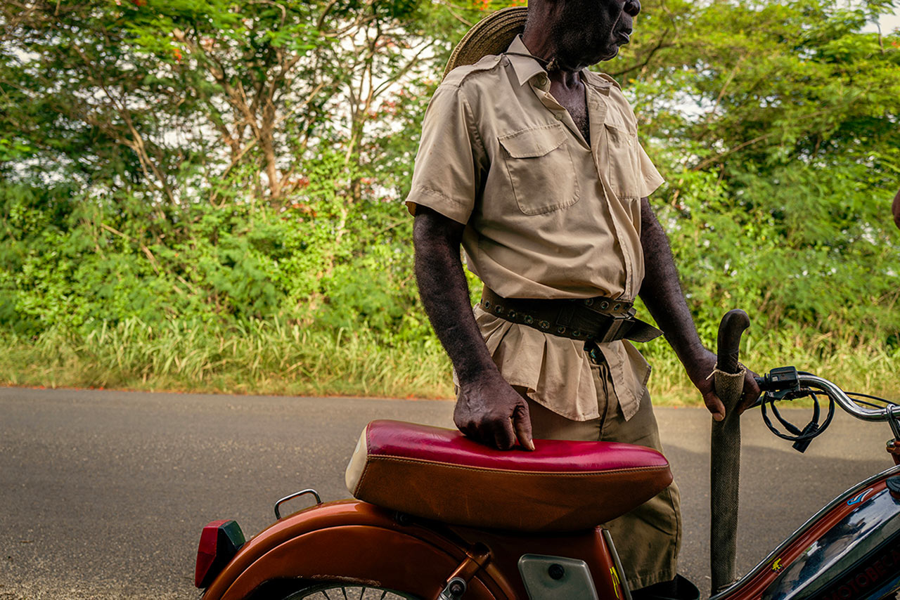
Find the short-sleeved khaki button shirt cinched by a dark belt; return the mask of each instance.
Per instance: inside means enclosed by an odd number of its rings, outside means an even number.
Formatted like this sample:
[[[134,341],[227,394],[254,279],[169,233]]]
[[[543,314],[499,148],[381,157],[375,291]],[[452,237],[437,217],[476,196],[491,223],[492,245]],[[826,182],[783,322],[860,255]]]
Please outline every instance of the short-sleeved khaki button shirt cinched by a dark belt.
[[[521,38],[509,53],[455,68],[428,105],[407,207],[464,223],[468,268],[506,298],[633,300],[644,279],[641,198],[662,176],[609,76],[581,72],[590,144],[550,94]],[[599,416],[584,343],[475,308],[500,373],[573,420]],[[650,367],[628,342],[599,345],[624,416]]]

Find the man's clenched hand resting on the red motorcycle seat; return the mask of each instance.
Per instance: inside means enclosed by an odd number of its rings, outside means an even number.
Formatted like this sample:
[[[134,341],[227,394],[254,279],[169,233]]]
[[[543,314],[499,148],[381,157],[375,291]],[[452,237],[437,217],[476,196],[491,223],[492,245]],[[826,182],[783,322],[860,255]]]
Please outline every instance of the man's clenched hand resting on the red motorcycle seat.
[[[510,450],[518,442],[534,450],[528,405],[500,373],[486,373],[476,381],[460,384],[454,423],[476,442]]]

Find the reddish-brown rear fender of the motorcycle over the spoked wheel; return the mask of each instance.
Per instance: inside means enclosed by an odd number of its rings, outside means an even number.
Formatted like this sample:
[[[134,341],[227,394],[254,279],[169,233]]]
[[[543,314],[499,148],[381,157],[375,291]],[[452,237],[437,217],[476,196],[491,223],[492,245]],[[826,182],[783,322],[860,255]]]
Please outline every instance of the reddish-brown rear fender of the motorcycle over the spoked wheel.
[[[460,542],[420,524],[401,524],[391,511],[365,502],[329,502],[284,517],[247,542],[203,600],[252,597],[273,581],[295,587],[352,582],[430,599],[455,569],[471,560]],[[508,597],[502,589],[509,586],[484,579],[470,581],[467,598]]]

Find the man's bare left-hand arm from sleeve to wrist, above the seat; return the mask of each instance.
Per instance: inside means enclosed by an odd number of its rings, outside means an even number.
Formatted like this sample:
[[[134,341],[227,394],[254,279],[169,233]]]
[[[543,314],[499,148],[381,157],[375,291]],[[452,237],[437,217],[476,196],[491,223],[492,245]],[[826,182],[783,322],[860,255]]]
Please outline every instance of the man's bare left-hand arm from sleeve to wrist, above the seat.
[[[460,260],[463,227],[433,210],[419,208],[413,226],[419,295],[437,337],[461,383],[497,367],[484,345],[469,303],[469,286]]]

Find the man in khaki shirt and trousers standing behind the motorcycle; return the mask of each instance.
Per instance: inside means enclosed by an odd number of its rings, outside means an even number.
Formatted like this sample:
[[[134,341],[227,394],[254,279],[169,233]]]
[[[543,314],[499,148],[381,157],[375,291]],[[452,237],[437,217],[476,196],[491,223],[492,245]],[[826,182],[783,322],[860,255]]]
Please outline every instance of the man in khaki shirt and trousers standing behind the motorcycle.
[[[407,206],[422,302],[454,363],[455,424],[503,450],[537,439],[661,449],[650,367],[625,338],[640,294],[716,419],[668,241],[662,177],[618,85],[586,67],[628,42],[637,0],[531,0],[521,37],[455,68],[432,98]],[[460,259],[485,284],[474,313]],[[658,332],[657,332],[658,333]],[[752,377],[746,401],[759,394]],[[678,597],[678,488],[604,524],[635,597]],[[696,588],[694,588],[696,592]]]

